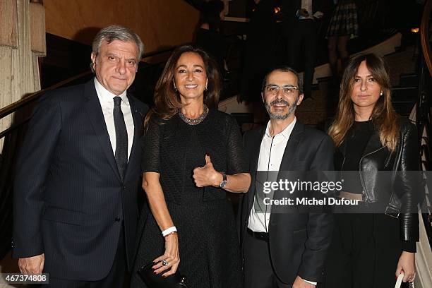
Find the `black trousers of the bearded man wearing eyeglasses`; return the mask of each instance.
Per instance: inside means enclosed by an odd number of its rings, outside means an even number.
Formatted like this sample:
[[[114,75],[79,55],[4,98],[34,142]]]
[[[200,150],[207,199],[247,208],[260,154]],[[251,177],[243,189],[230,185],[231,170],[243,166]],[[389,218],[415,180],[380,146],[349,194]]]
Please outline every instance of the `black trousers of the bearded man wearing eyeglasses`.
[[[291,288],[273,272],[268,242],[246,234],[244,239],[244,288]]]

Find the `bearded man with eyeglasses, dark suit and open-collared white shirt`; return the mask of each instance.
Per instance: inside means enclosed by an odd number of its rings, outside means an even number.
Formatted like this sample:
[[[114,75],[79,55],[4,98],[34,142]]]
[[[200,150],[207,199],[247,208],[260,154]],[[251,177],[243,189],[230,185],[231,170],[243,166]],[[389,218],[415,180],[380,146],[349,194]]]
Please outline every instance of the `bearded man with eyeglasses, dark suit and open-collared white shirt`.
[[[280,172],[332,170],[333,143],[327,134],[296,119],[296,107],[304,97],[296,71],[287,66],[272,69],[262,87],[270,121],[244,135],[252,177],[239,210],[244,287],[314,288],[321,281],[332,216],[273,213],[262,184],[279,181]]]

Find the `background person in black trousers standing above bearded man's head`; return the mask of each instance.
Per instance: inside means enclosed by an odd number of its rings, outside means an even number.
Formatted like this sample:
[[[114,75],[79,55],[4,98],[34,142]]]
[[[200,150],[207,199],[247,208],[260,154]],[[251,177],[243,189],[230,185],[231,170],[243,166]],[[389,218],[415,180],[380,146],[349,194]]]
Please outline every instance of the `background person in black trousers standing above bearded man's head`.
[[[284,19],[282,33],[287,41],[288,65],[304,68],[304,99],[312,97],[316,47],[317,21],[323,18],[323,0],[281,0]]]

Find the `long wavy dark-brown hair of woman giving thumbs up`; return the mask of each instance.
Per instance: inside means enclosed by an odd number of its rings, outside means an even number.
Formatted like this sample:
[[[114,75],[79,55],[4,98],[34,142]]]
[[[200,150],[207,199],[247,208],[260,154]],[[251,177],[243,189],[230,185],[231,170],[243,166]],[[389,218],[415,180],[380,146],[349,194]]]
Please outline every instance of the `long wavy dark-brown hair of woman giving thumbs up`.
[[[177,114],[179,109],[184,106],[181,103],[179,92],[174,90],[173,83],[177,61],[179,61],[180,56],[186,52],[196,53],[203,59],[205,72],[208,78],[207,90],[204,91],[204,103],[209,108],[217,108],[221,90],[220,73],[217,70],[217,64],[203,49],[191,45],[184,45],[174,50],[167,64],[165,64],[162,75],[159,80],[157,80],[154,98],[155,107],[152,107],[147,116],[145,116],[144,126],[147,126],[148,121],[154,116],[157,116],[157,118],[161,120],[168,120]]]

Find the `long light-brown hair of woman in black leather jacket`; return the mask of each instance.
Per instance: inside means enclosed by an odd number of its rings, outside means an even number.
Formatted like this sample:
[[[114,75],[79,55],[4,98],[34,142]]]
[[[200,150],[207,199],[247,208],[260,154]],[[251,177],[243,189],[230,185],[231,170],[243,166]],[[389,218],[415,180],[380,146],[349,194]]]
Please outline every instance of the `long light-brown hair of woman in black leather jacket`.
[[[397,125],[397,114],[392,106],[390,77],[388,76],[385,67],[384,59],[376,54],[359,54],[355,56],[347,68],[345,68],[340,84],[339,104],[335,121],[328,130],[328,134],[332,137],[336,146],[340,146],[344,141],[345,136],[354,124],[355,112],[351,100],[351,93],[354,87],[354,79],[362,61],[366,61],[366,66],[371,72],[373,78],[380,85],[383,95],[378,98],[373,107],[371,120],[373,126],[380,134],[380,142],[390,151],[394,151],[399,137],[399,126]]]

